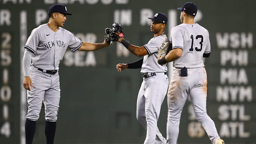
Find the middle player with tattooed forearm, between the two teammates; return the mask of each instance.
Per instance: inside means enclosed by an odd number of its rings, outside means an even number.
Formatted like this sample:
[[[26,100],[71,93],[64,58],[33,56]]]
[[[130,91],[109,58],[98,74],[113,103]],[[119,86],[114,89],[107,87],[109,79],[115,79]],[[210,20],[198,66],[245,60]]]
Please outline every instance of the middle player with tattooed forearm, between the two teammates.
[[[157,121],[162,102],[167,93],[169,79],[166,75],[167,65],[159,65],[157,57],[158,47],[167,38],[164,33],[167,17],[165,14],[158,12],[149,19],[152,20],[150,28],[154,37],[149,40],[148,44],[138,47],[129,44],[124,38],[118,39],[130,52],[138,57],[144,57],[133,63],[117,64],[116,67],[119,72],[127,68],[141,68],[140,73],[143,76],[143,82],[137,99],[137,119],[146,129],[144,144],[166,144],[166,139],[157,127]]]

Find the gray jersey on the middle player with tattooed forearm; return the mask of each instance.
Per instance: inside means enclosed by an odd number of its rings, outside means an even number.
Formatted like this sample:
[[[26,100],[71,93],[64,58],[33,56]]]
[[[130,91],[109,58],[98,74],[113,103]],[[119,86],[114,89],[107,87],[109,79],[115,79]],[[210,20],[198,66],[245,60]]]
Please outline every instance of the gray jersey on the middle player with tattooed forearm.
[[[157,62],[158,50],[160,44],[165,40],[166,35],[164,33],[160,34],[157,37],[153,37],[149,40],[148,44],[145,44],[148,55],[144,55],[142,69],[140,73],[160,73],[167,71],[167,65],[159,65]]]

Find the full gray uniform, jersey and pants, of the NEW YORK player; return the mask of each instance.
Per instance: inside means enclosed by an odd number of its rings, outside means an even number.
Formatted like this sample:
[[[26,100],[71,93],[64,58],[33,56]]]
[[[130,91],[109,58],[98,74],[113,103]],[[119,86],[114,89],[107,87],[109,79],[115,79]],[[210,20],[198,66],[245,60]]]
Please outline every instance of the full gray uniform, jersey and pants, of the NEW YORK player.
[[[25,45],[34,53],[29,72],[33,87],[27,91],[27,119],[37,121],[44,102],[45,119],[49,122],[57,121],[60,101],[59,63],[67,48],[74,52],[81,45],[80,39],[62,27],[54,32],[47,24],[43,24],[31,32]],[[47,73],[47,70],[57,72]]]

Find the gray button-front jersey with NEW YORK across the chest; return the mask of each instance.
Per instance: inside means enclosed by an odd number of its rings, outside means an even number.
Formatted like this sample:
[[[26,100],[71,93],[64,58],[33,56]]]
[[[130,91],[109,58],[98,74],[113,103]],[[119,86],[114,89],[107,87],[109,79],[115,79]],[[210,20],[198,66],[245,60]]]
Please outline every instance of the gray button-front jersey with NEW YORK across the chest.
[[[35,54],[32,58],[33,66],[44,70],[58,70],[66,49],[74,52],[81,45],[81,40],[64,28],[59,27],[58,31],[54,32],[47,24],[43,24],[31,32],[25,48]]]

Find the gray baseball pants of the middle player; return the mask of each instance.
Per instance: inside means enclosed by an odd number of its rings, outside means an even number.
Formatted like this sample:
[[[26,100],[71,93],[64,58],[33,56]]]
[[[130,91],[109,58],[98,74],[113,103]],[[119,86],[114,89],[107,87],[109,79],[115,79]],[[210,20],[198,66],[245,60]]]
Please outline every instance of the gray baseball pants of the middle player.
[[[137,119],[146,129],[144,144],[166,143],[157,127],[157,121],[168,85],[169,79],[164,73],[143,78],[137,99]]]

